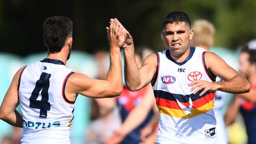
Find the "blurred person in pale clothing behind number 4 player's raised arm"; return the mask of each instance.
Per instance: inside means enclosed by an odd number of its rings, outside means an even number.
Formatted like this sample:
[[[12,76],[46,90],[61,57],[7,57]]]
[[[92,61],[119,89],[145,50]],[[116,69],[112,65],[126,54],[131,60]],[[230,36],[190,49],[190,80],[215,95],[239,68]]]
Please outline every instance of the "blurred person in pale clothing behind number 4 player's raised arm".
[[[98,64],[96,79],[106,79],[108,72],[107,59],[108,53],[106,51],[95,53],[95,60]],[[106,138],[121,125],[115,98],[91,99],[90,116],[92,122],[85,133],[86,144],[104,144]]]

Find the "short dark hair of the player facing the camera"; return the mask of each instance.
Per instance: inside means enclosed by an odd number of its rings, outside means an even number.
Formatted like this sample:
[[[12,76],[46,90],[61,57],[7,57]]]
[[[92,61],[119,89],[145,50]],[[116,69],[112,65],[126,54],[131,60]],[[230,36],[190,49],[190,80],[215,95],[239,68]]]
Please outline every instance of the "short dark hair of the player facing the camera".
[[[185,22],[189,28],[191,28],[191,21],[187,13],[183,11],[171,11],[169,12],[165,18],[163,18],[163,27],[165,28],[166,24],[179,24]]]

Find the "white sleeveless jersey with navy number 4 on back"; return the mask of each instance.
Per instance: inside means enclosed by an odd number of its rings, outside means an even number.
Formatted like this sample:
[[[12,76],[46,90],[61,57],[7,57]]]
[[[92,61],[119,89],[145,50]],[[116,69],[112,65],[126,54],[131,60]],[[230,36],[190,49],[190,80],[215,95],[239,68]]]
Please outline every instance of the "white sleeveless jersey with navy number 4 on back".
[[[74,102],[67,100],[65,86],[73,73],[56,59],[44,59],[22,70],[18,85],[22,144],[70,144]]]

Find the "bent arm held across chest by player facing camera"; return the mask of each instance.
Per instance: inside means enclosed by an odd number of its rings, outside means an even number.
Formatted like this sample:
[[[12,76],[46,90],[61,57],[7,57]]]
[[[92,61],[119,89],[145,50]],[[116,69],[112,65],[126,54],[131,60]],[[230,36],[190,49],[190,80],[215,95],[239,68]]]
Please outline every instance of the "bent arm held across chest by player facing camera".
[[[227,65],[225,61],[218,55],[212,52],[206,52],[205,62],[208,71],[212,72],[224,81],[214,83],[203,80],[193,81],[190,85],[195,85],[191,91],[197,88],[194,93],[197,93],[198,90],[203,88],[204,91],[200,93],[200,96],[202,96],[202,94],[204,94],[207,90],[220,90],[233,94],[240,94],[250,91],[250,83],[236,70]]]

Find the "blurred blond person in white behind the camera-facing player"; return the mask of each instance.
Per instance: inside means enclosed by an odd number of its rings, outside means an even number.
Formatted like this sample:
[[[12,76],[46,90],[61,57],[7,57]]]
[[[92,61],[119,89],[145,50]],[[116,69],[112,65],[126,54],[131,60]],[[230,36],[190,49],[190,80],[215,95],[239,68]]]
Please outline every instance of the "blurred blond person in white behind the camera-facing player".
[[[191,46],[201,47],[209,51],[210,47],[213,46],[214,44],[215,28],[213,24],[211,24],[211,22],[208,22],[207,20],[199,19],[193,22],[192,29],[194,29],[194,36],[193,36],[193,39],[191,40]],[[222,81],[222,79],[217,77],[216,81]],[[228,143],[227,131],[224,124],[225,112],[223,112],[225,111],[226,109],[225,107],[227,107],[229,103],[228,96],[230,96],[230,94],[226,92],[221,92],[218,90],[215,92],[213,109],[214,109],[215,118],[217,121],[216,131],[218,133],[219,144]]]

